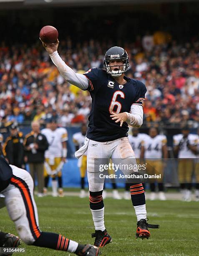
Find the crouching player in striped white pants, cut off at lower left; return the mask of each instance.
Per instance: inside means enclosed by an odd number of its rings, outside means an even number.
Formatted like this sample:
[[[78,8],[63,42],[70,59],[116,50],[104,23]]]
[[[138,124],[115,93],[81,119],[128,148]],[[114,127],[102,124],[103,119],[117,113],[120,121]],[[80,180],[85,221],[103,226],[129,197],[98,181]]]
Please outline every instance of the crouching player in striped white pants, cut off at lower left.
[[[99,249],[94,246],[81,245],[60,234],[40,230],[33,187],[33,179],[27,171],[9,165],[0,156],[0,192],[5,196],[8,214],[15,223],[20,239],[27,245],[68,251],[81,256],[98,256]]]

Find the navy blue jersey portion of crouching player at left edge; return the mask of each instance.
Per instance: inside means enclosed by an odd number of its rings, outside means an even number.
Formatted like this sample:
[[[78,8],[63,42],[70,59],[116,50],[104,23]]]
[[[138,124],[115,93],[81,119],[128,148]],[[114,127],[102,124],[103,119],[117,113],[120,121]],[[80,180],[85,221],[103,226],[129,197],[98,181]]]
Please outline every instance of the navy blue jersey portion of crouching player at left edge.
[[[2,156],[0,156],[0,191],[9,185],[12,175],[12,168],[8,162]]]

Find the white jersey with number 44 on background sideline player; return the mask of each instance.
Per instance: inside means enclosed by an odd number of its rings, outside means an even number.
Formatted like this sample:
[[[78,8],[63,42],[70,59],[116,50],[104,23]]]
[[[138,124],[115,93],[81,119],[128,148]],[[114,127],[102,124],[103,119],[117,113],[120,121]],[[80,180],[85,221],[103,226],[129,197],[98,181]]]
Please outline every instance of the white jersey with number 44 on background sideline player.
[[[157,135],[151,138],[149,135],[144,138],[144,149],[146,159],[161,159],[162,158],[162,146],[166,145],[167,139],[165,135]]]

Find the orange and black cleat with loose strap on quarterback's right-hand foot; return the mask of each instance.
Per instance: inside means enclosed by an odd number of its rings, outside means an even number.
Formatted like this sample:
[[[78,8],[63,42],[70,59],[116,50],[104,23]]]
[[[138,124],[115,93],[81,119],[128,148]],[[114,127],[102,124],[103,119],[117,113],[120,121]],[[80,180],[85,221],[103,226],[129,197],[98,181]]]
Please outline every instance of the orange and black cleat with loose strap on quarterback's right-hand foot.
[[[148,224],[148,219],[141,219],[137,222],[136,238],[149,239],[151,236],[148,228],[159,228],[159,225]]]

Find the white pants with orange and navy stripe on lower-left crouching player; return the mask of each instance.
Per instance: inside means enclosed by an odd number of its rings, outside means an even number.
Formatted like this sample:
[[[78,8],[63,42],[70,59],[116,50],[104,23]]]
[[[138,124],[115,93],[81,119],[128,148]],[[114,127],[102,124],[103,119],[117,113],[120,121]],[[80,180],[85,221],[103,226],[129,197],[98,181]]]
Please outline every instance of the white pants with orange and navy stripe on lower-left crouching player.
[[[20,238],[26,244],[32,244],[40,236],[37,206],[33,197],[33,179],[27,171],[13,165],[10,167],[13,177],[1,193],[5,196],[8,214],[14,221]]]

